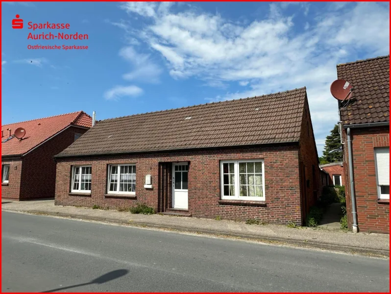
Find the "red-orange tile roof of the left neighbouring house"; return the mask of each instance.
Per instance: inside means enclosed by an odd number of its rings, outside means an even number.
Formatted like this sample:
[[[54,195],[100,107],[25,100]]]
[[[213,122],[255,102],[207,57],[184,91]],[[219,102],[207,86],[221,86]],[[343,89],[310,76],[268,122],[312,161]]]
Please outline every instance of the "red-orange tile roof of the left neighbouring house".
[[[18,127],[23,127],[26,134],[21,141],[12,138],[1,143],[1,156],[24,154],[71,124],[91,127],[92,118],[84,111],[77,111],[43,119],[2,125],[1,130],[4,137],[1,140],[9,136],[8,129],[11,129],[12,135]]]

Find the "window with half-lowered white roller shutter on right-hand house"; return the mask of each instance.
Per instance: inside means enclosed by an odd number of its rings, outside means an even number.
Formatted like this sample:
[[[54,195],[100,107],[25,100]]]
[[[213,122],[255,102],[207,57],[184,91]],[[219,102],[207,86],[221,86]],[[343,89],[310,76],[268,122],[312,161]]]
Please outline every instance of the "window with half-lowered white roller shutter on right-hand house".
[[[377,194],[380,199],[390,199],[390,148],[375,148]]]

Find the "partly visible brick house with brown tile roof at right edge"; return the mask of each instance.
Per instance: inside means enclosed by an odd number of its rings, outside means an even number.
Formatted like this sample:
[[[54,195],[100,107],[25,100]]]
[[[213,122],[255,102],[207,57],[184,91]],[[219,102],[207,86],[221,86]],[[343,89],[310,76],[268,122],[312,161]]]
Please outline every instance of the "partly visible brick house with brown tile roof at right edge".
[[[339,102],[349,226],[353,231],[389,233],[390,55],[340,64],[337,72],[354,87],[350,101]]]

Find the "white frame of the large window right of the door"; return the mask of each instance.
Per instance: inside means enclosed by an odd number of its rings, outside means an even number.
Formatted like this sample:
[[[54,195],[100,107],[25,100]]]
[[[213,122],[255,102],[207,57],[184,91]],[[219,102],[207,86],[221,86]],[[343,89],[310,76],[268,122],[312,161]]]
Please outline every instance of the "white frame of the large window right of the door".
[[[239,163],[244,162],[262,162],[262,193],[263,197],[256,196],[239,196]],[[224,163],[234,163],[235,171],[235,195],[236,196],[224,196]],[[249,201],[265,201],[265,161],[263,159],[246,159],[246,160],[221,160],[220,161],[220,195],[223,200],[249,200]]]

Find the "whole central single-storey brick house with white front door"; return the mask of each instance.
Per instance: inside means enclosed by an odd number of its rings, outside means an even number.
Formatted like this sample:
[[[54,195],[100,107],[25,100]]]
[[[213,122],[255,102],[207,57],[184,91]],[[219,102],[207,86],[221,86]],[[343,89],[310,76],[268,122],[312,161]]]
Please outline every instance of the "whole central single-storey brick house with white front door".
[[[301,225],[319,193],[305,88],[102,120],[55,158],[56,205]]]

